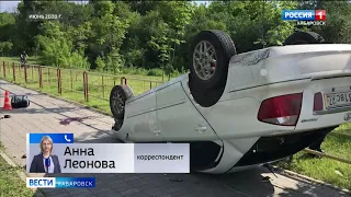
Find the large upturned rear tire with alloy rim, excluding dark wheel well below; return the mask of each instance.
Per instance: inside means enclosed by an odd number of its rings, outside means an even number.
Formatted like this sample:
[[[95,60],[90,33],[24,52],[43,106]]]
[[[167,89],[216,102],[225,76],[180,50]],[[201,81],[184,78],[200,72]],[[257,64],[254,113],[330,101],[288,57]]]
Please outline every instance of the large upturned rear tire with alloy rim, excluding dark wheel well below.
[[[207,53],[202,51],[204,46]],[[200,89],[217,89],[225,85],[230,58],[236,55],[231,38],[223,31],[202,31],[191,44],[190,73],[192,83]],[[212,62],[211,62],[212,61]],[[205,66],[206,69],[204,68]],[[202,71],[212,74],[204,74]]]

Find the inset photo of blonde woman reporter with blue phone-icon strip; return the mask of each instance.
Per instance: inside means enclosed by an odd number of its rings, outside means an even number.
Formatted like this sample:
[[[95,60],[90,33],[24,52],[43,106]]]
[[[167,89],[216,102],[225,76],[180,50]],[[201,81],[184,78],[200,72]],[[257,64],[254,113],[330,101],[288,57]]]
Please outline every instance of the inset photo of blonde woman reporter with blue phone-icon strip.
[[[61,162],[59,153],[55,153],[55,142],[71,143],[72,139],[72,135],[29,134],[26,172],[61,173]]]

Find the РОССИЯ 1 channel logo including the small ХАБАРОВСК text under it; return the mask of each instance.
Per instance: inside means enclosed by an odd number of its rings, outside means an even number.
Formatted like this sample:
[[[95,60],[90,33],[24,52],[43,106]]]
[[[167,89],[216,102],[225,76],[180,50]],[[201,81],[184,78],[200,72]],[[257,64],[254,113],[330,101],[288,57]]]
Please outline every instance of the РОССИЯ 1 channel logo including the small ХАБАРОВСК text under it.
[[[282,20],[297,25],[326,25],[326,10],[283,10]]]

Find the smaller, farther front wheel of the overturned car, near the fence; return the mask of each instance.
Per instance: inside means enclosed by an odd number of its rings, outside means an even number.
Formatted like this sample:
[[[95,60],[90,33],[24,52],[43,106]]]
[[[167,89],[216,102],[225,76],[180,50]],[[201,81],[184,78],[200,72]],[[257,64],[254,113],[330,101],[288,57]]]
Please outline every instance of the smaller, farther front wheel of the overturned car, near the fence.
[[[133,97],[133,91],[125,84],[115,85],[110,94],[110,108],[115,119],[123,120],[125,102]]]

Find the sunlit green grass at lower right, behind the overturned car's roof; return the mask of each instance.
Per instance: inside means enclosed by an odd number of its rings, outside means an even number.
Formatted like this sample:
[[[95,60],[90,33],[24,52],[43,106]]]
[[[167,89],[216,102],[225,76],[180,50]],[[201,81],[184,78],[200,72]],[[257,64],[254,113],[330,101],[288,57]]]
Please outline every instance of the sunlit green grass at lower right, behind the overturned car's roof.
[[[327,154],[351,161],[351,124],[343,124],[330,132],[321,144]],[[291,163],[279,162],[287,169],[306,176],[351,190],[351,165],[328,158],[313,159],[301,151]],[[341,175],[339,174],[341,173]]]

